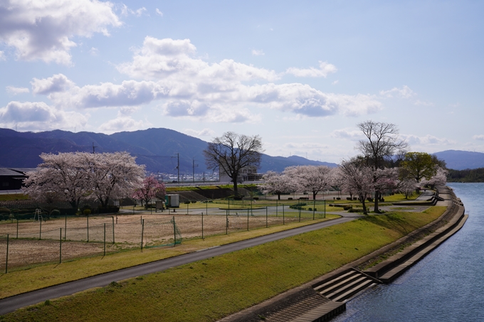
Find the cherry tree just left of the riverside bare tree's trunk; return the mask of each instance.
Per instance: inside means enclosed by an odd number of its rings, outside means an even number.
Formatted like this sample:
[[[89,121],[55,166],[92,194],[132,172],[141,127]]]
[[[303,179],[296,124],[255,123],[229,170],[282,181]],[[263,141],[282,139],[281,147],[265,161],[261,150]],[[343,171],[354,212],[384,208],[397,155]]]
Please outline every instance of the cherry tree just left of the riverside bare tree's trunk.
[[[337,168],[335,178],[343,191],[352,191],[358,195],[362,203],[363,213],[367,215],[365,201],[374,190],[372,168],[354,159],[343,160]]]

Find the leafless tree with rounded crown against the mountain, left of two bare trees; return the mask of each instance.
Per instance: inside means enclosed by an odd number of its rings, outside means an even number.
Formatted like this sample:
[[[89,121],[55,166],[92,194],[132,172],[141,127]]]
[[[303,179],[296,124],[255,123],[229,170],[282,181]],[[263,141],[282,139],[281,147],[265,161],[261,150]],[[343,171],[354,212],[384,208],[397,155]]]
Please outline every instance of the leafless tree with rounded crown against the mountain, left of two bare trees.
[[[261,165],[262,141],[258,135],[246,136],[225,132],[209,142],[204,150],[206,166],[219,168],[233,181],[233,194],[238,195],[237,183],[243,168]]]

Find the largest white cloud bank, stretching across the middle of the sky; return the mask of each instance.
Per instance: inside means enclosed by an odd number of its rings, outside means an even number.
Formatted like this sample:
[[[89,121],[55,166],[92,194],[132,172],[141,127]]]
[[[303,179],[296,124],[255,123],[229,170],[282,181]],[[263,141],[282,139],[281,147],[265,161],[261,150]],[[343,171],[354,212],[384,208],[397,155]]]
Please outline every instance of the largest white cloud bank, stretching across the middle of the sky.
[[[273,70],[233,60],[209,64],[192,57],[194,53],[189,39],[147,37],[131,62],[117,66],[122,73],[147,80],[78,87],[58,74],[34,79],[33,92],[48,94],[58,107],[78,109],[139,107],[161,100],[165,115],[207,122],[258,122],[261,116],[249,108],[278,109],[299,117],[357,116],[382,109],[375,95],[340,95],[300,83],[275,84],[278,75]],[[246,84],[249,81],[261,84]]]

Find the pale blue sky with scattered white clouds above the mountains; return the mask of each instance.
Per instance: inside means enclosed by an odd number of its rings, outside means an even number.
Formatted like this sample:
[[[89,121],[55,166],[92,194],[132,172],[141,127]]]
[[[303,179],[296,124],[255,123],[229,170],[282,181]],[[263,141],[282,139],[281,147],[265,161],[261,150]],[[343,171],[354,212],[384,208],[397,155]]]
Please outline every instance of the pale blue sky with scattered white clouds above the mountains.
[[[484,152],[484,1],[0,0],[0,127],[211,141],[339,163],[357,124]]]

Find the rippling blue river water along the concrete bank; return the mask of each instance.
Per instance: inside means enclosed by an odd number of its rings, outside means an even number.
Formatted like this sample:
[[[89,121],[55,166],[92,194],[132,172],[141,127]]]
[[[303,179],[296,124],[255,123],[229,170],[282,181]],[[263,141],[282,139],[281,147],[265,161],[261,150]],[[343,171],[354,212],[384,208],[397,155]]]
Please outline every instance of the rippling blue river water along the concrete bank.
[[[347,302],[332,321],[484,321],[484,183],[448,183],[467,222],[391,284]]]

